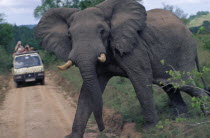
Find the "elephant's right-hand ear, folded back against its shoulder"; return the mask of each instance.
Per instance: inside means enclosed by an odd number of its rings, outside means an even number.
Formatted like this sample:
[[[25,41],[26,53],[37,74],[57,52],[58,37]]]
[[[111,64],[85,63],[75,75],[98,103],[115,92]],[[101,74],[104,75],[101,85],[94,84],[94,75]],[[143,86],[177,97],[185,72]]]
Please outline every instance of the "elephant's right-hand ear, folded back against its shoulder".
[[[106,0],[96,7],[110,21],[111,48],[120,55],[138,45],[138,32],[146,26],[146,10],[135,0]]]

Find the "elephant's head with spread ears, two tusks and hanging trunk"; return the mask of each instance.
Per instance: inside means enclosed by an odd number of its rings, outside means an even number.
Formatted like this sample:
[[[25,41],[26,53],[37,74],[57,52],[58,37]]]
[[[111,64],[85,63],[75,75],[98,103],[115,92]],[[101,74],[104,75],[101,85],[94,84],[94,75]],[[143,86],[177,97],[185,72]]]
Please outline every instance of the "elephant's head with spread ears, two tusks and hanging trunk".
[[[97,63],[111,62],[106,61],[108,50],[112,55],[120,56],[132,51],[138,44],[138,32],[146,26],[145,21],[145,8],[138,2],[106,0],[82,11],[73,8],[51,9],[35,29],[42,46],[66,61],[59,69],[66,70],[72,65],[79,67],[83,85],[91,95],[90,106],[101,130],[103,122],[97,120],[102,116]]]

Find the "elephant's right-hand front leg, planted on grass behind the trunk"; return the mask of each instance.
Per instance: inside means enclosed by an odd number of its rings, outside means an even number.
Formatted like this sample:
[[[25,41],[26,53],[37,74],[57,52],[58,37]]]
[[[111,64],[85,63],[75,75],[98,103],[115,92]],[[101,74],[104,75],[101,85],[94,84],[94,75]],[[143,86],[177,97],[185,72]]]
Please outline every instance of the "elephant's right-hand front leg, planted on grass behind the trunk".
[[[157,123],[157,113],[152,95],[152,68],[147,54],[142,56],[143,58],[136,58],[139,55],[141,55],[140,52],[134,51],[133,55],[116,56],[116,59],[131,80],[141,104],[146,125],[150,126]]]

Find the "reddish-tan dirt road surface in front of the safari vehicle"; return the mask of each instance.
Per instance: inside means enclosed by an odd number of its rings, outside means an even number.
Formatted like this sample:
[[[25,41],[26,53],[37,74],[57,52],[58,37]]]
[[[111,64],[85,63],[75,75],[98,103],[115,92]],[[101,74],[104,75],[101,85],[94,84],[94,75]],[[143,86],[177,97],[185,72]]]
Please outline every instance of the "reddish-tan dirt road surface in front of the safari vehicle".
[[[0,138],[63,138],[71,131],[75,103],[53,80],[15,88],[10,82],[0,109]]]

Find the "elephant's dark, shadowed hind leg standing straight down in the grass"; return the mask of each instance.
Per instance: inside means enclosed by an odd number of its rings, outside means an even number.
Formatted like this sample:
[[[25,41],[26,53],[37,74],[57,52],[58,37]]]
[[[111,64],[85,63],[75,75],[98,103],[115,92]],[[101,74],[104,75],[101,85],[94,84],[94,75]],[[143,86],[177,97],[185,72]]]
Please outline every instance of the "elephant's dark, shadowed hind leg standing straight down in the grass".
[[[187,105],[182,99],[180,90],[175,89],[171,84],[165,85],[162,88],[170,99],[170,104],[173,108],[173,115],[180,116],[181,114],[187,113]]]

